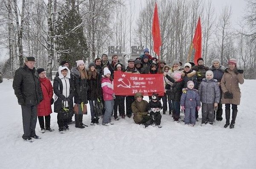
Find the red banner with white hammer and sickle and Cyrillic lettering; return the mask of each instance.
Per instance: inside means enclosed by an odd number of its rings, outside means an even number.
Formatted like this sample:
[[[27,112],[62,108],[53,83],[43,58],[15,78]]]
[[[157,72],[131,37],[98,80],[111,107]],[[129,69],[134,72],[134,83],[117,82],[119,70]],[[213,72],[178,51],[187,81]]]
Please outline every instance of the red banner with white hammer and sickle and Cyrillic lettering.
[[[114,72],[114,93],[120,96],[133,96],[137,92],[143,96],[158,93],[163,96],[163,74],[137,74]]]

